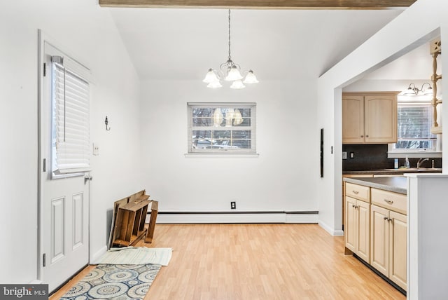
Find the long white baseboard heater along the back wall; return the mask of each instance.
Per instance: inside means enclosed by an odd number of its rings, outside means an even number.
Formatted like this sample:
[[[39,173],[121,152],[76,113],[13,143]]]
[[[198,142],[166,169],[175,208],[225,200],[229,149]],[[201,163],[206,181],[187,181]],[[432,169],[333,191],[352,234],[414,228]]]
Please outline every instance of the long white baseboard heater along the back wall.
[[[157,223],[318,223],[318,211],[158,212]]]

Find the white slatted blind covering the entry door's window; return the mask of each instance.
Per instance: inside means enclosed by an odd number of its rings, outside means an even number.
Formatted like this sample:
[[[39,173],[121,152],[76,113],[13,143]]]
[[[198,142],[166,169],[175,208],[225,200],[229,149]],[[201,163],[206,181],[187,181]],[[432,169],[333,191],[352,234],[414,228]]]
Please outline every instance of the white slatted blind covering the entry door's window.
[[[55,175],[90,170],[89,83],[52,62],[52,163]]]

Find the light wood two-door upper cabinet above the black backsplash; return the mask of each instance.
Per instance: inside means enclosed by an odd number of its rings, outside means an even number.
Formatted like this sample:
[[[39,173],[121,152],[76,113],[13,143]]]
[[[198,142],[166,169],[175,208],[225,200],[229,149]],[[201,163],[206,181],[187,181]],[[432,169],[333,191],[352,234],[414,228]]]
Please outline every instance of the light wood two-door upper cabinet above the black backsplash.
[[[398,93],[342,93],[342,144],[397,142]]]

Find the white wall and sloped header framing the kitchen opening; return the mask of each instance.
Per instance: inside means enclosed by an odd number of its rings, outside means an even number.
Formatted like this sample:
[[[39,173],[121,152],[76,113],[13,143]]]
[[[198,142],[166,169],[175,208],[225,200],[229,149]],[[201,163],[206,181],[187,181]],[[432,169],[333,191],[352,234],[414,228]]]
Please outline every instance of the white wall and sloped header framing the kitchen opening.
[[[443,41],[448,41],[447,11],[446,1],[417,0],[318,80],[318,128],[323,126],[328,132],[326,144],[335,145],[335,155],[325,161],[325,168],[333,172],[327,173],[330,178],[319,181],[317,188],[319,221],[330,233],[339,234],[342,227],[341,88],[439,34],[443,45]],[[446,70],[448,57],[441,56],[441,69]],[[442,92],[448,93],[447,85],[442,87]],[[448,114],[447,106],[442,109],[442,114]],[[447,156],[448,146],[444,144],[442,151],[443,156]],[[447,172],[447,160],[443,161],[442,167]]]

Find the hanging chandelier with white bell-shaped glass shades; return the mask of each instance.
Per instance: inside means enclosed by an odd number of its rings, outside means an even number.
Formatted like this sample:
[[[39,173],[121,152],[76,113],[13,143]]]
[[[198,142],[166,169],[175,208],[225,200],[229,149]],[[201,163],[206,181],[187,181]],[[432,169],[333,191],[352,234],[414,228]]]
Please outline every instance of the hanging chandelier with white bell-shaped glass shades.
[[[232,85],[230,88],[241,89],[246,88],[244,83],[258,83],[257,77],[253,74],[253,71],[250,69],[248,71],[244,71],[242,76],[241,67],[239,64],[236,64],[232,61],[232,56],[230,55],[230,9],[229,9],[229,57],[227,62],[224,62],[219,66],[218,71],[215,69],[209,69],[207,72],[203,82],[209,83],[207,88],[221,88],[221,80],[232,81]],[[244,80],[242,80],[244,78]]]

